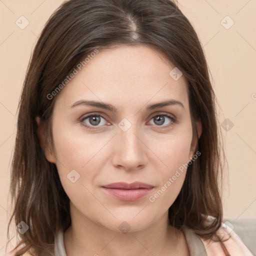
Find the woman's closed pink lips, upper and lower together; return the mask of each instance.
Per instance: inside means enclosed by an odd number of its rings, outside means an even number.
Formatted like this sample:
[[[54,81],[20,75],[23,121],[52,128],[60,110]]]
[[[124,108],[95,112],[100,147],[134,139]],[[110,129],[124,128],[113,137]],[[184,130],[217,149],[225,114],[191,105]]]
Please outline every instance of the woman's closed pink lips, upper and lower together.
[[[135,201],[148,194],[154,186],[143,182],[115,182],[103,185],[102,188],[113,197],[124,201]]]

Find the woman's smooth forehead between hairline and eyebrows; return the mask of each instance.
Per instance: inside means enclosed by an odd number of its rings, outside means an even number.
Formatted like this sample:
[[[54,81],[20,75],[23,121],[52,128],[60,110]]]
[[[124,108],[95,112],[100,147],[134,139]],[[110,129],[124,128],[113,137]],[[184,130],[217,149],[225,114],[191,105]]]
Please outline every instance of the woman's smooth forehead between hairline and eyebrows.
[[[102,100],[118,107],[173,98],[188,107],[186,80],[172,78],[174,67],[160,51],[144,45],[98,49],[57,101],[69,106],[76,100]]]

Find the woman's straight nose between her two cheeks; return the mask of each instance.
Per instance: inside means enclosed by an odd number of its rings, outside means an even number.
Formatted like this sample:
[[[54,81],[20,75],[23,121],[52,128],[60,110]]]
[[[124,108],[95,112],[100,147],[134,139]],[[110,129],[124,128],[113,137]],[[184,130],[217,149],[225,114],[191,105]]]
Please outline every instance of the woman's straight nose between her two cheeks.
[[[144,144],[144,136],[132,125],[128,130],[117,130],[114,138],[112,164],[128,171],[137,170],[146,165],[148,150]]]

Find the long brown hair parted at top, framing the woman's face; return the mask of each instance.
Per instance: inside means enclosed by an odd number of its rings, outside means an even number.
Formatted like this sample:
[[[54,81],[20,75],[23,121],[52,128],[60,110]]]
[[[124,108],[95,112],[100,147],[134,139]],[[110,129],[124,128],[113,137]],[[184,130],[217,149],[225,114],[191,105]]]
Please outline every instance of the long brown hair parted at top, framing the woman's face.
[[[28,251],[50,254],[54,236],[71,223],[69,198],[56,165],[47,161],[37,135],[39,116],[45,137],[52,142],[51,116],[56,89],[63,79],[95,48],[114,45],[156,47],[188,82],[193,134],[200,119],[202,133],[197,148],[201,155],[191,162],[183,186],[169,207],[169,224],[192,228],[212,237],[222,221],[221,180],[223,165],[216,97],[200,41],[180,9],[171,0],[69,0],[63,2],[45,24],[32,56],[19,101],[17,135],[11,165],[12,218],[29,229],[19,234],[16,255]],[[212,216],[212,221],[206,218]]]

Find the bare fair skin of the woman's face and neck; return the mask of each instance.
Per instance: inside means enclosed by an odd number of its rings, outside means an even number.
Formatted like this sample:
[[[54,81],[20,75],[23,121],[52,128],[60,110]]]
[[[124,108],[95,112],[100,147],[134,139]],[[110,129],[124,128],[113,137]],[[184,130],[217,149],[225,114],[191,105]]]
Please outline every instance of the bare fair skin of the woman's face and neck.
[[[57,95],[54,151],[49,145],[43,147],[70,198],[72,223],[64,233],[67,256],[189,255],[183,233],[168,225],[167,215],[185,169],[154,202],[149,201],[193,156],[197,143],[192,138],[187,84],[183,75],[176,81],[169,75],[173,67],[147,46],[99,50]],[[184,108],[174,104],[146,110],[148,104],[167,99],[182,102]],[[83,104],[70,107],[78,100],[110,103],[117,111]],[[163,117],[164,123],[159,124],[153,117],[163,113],[177,122]],[[89,118],[79,120],[89,114],[103,118],[97,126]],[[128,120],[125,127],[131,125],[126,131],[118,126],[123,118]],[[39,129],[43,134],[40,125]],[[200,136],[200,121],[197,132]],[[75,182],[67,178],[72,169],[80,175]],[[101,188],[117,181],[142,181],[154,188],[139,200],[122,201]],[[118,228],[123,221],[130,228],[127,233]]]

